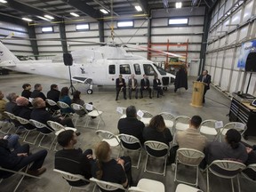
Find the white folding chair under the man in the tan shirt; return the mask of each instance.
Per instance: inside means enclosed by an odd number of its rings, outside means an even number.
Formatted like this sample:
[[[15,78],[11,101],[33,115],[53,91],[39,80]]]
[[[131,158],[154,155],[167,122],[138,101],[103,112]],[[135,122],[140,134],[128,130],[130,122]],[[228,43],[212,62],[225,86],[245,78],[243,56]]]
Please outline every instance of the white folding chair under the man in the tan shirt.
[[[199,164],[204,159],[204,153],[192,148],[179,148],[176,155],[176,169],[174,173],[174,181],[183,182],[188,185],[198,186]],[[190,183],[177,179],[178,164],[185,164],[191,167],[196,167],[196,183]],[[188,170],[188,169],[187,169]]]

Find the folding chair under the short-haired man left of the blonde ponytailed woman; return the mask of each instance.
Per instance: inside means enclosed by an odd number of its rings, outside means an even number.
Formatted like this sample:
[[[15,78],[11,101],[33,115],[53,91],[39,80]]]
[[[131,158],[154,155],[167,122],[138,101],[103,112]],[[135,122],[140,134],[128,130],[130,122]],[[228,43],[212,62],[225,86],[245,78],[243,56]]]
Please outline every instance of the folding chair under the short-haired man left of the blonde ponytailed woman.
[[[65,180],[69,180],[69,181],[84,180],[84,181],[88,182],[88,184],[84,185],[84,186],[71,186],[69,184],[69,186],[70,186],[69,192],[71,192],[72,188],[84,189],[86,191],[89,191],[89,189],[90,189],[89,187],[90,187],[91,182],[90,182],[90,180],[85,179],[83,175],[72,174],[70,172],[63,172],[63,171],[58,170],[58,169],[53,169],[53,172],[59,172],[60,175],[62,176],[62,178],[65,179]]]

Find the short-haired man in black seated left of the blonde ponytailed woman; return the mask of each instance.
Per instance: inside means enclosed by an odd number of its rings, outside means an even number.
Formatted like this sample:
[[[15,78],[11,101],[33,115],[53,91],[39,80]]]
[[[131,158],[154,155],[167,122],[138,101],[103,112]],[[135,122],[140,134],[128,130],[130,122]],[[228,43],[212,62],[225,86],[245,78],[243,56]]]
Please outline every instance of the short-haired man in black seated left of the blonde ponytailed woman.
[[[87,149],[84,153],[81,148],[76,149],[77,136],[76,132],[72,130],[60,132],[57,140],[63,149],[55,154],[55,169],[80,174],[83,175],[85,179],[89,180],[92,177],[91,164],[94,162],[92,149]],[[88,182],[84,180],[67,181],[71,186],[83,186],[88,184]]]

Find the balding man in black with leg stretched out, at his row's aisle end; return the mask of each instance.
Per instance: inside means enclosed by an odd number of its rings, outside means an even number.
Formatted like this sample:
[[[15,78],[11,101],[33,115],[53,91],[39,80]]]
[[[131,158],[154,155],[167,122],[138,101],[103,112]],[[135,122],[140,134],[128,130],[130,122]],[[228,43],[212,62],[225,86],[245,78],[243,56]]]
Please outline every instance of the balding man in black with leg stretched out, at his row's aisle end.
[[[33,110],[30,115],[31,119],[34,119],[42,124],[47,124],[47,121],[54,121],[58,122],[59,124],[66,125],[68,127],[75,127],[72,119],[69,117],[63,118],[63,117],[53,117],[50,112],[45,110],[45,101],[42,98],[35,98],[32,101]],[[41,132],[51,132],[48,129],[41,130]]]

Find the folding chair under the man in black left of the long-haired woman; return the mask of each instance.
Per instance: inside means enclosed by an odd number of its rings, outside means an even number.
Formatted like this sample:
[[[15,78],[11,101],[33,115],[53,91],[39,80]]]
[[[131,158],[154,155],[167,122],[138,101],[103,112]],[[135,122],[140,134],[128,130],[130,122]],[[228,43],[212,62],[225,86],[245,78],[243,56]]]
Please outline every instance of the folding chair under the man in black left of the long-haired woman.
[[[128,134],[119,134],[119,135],[117,135],[117,137],[119,138],[119,140],[121,140],[125,144],[124,145],[121,142],[122,148],[125,148],[128,151],[130,150],[130,151],[139,151],[140,152],[137,165],[136,166],[132,165],[132,167],[136,167],[137,169],[139,169],[140,157],[141,157],[141,153],[142,153],[142,146],[140,144],[140,140],[138,138],[136,138],[132,135],[128,135]],[[138,148],[134,148],[133,146],[138,147]]]

